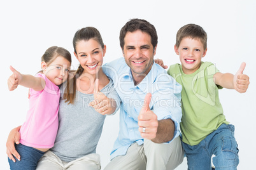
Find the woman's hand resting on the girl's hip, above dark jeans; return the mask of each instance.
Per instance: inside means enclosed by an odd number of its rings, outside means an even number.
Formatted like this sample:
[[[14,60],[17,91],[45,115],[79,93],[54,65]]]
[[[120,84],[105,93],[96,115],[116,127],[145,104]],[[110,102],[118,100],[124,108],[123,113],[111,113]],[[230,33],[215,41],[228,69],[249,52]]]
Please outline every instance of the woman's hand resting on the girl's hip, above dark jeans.
[[[9,159],[13,160],[13,162],[15,162],[14,157],[20,160],[20,154],[18,154],[14,145],[14,143],[17,145],[20,143],[20,127],[21,126],[18,126],[17,128],[12,129],[6,141],[6,154],[8,155]]]

